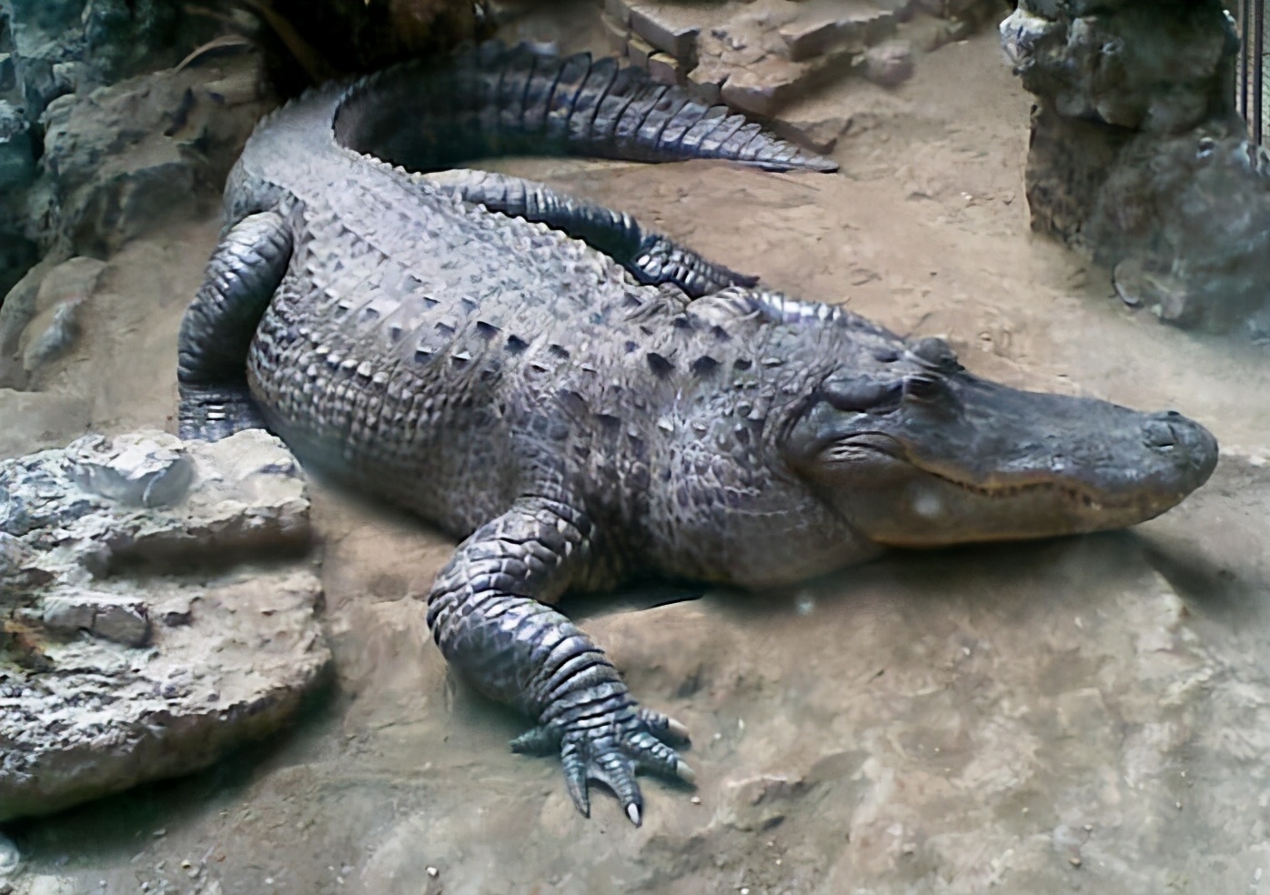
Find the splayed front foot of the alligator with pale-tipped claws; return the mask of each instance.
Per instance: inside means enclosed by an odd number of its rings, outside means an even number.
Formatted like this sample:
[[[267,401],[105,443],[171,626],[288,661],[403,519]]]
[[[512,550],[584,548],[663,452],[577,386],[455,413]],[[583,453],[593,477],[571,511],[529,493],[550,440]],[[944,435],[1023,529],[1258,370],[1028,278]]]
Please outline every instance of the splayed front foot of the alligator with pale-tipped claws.
[[[644,820],[644,797],[636,771],[688,785],[696,782],[696,772],[668,743],[688,743],[687,727],[660,712],[627,707],[563,730],[555,725],[533,727],[512,740],[512,750],[545,755],[559,749],[569,797],[584,816],[591,816],[588,785],[597,781],[617,796],[626,816],[639,826]]]

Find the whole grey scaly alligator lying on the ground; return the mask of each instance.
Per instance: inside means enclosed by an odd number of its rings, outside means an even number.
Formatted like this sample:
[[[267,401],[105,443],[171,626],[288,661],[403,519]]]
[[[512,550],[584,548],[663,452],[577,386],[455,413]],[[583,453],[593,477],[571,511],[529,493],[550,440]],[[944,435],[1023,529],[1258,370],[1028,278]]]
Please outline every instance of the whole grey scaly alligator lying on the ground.
[[[1133,526],[1212,474],[1177,414],[1021,391],[939,338],[759,287],[627,215],[457,168],[493,154],[832,171],[682,89],[484,44],[264,119],[182,322],[179,427],[264,425],[461,543],[427,595],[451,666],[639,825],[685,726],[555,604],[641,576],[770,588],[888,548]],[[812,175],[809,175],[812,176]]]

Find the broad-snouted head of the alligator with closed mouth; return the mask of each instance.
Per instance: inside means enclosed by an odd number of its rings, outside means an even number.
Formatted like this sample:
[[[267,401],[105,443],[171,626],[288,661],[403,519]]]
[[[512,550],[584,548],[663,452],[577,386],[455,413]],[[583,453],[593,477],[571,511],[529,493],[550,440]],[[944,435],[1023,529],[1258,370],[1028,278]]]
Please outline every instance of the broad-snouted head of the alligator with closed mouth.
[[[875,543],[1123,528],[1175,507],[1217,465],[1213,435],[1177,413],[988,382],[940,339],[893,354],[829,373],[784,439],[794,470]]]

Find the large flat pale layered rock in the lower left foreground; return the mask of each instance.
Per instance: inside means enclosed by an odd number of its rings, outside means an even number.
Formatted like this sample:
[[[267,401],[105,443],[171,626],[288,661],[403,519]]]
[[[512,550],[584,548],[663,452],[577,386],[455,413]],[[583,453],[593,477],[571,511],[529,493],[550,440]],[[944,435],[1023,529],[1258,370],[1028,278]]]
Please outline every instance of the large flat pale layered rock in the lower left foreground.
[[[307,546],[304,480],[263,430],[0,462],[0,820],[188,773],[282,725],[329,664],[320,584],[305,564],[234,565]]]

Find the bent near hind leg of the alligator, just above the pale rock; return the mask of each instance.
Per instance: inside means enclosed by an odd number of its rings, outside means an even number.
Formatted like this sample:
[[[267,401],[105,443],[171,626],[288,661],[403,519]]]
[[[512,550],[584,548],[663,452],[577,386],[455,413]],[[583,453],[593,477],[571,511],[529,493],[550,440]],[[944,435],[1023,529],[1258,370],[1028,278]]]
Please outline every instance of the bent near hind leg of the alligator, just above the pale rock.
[[[263,428],[246,383],[246,352],[291,260],[291,230],[274,211],[221,237],[177,339],[182,438],[218,441]]]

